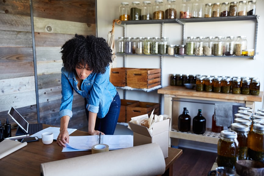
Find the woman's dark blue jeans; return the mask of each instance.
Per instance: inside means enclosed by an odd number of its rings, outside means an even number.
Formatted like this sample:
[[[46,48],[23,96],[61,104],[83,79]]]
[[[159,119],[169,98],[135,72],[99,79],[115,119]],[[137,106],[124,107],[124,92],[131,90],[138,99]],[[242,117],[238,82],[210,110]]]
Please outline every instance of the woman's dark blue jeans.
[[[84,106],[87,101],[85,99]],[[102,131],[105,135],[113,135],[116,129],[117,120],[120,113],[121,101],[118,92],[114,97],[108,113],[103,118],[96,117],[95,130]],[[89,122],[89,111],[85,108],[87,120]]]

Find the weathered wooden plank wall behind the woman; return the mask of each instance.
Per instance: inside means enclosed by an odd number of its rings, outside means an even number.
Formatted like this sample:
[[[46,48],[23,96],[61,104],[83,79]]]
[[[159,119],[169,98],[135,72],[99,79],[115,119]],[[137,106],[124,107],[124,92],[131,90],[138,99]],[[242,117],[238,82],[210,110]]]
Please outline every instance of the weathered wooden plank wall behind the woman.
[[[37,82],[29,0],[0,1],[0,120],[14,106],[30,123],[59,126],[61,46],[74,34],[96,35],[96,0],[32,0]],[[38,86],[36,97],[35,84]],[[74,95],[69,128],[87,126],[84,99]],[[15,124],[9,118],[11,124]]]

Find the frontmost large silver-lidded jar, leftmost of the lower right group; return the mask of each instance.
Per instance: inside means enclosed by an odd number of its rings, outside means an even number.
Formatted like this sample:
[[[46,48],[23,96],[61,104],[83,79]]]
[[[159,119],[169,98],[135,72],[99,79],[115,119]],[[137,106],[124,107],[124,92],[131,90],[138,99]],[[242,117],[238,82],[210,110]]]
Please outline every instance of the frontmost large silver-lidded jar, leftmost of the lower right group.
[[[238,141],[237,132],[232,130],[223,130],[217,143],[217,166],[235,168],[238,160]]]

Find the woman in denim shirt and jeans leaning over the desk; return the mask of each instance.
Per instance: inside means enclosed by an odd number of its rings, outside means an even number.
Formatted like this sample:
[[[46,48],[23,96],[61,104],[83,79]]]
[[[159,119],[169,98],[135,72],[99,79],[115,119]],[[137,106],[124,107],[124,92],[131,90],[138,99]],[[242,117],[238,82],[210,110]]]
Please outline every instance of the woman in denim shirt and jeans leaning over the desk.
[[[73,91],[84,97],[88,133],[113,135],[120,113],[120,97],[109,81],[112,50],[105,39],[93,35],[75,37],[62,46],[60,133],[57,144],[66,147],[72,113]]]

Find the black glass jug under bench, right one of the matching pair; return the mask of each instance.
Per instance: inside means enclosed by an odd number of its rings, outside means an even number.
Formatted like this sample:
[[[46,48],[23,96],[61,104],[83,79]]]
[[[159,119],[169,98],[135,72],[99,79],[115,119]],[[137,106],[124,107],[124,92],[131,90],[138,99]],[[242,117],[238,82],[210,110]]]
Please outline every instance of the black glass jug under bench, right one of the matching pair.
[[[206,119],[202,116],[202,110],[198,110],[197,116],[193,118],[192,121],[192,131],[195,134],[202,135],[206,130]]]

